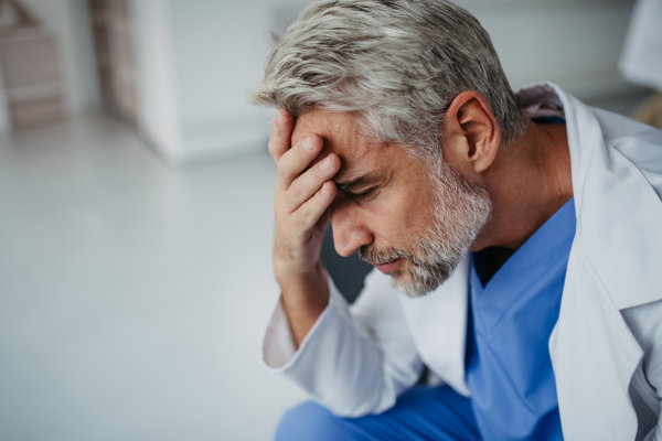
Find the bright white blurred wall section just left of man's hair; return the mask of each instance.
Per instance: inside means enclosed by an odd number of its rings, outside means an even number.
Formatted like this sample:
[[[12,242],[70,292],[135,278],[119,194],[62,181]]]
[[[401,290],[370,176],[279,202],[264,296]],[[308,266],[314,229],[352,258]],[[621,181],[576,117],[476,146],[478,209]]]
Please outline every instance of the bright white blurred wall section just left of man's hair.
[[[186,160],[264,147],[248,89],[269,47],[269,1],[169,0]]]

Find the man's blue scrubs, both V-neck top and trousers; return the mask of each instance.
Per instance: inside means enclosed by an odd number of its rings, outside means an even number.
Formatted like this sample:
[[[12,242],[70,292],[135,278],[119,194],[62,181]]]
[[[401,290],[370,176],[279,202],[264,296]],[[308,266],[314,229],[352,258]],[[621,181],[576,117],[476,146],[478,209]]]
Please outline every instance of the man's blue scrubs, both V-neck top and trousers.
[[[472,265],[467,341],[471,399],[448,386],[415,387],[391,410],[354,419],[306,402],[285,415],[276,440],[562,440],[547,343],[558,320],[575,228],[570,200],[484,287]]]

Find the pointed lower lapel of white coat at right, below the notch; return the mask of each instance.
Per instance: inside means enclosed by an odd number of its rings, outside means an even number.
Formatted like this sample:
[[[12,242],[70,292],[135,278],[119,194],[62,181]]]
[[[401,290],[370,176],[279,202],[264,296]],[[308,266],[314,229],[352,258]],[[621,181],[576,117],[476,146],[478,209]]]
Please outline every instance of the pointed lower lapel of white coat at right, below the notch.
[[[564,439],[634,440],[628,387],[642,351],[584,251],[579,232],[549,355]]]

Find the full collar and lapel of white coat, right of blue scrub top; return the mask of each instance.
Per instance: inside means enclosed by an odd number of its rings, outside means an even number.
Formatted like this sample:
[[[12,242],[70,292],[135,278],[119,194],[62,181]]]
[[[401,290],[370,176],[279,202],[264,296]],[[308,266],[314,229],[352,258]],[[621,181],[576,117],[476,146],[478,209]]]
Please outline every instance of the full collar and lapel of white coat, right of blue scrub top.
[[[662,298],[662,204],[639,169],[605,143],[594,112],[547,87],[563,101],[577,213],[549,338],[564,438],[633,440],[628,388],[642,351],[619,310]]]

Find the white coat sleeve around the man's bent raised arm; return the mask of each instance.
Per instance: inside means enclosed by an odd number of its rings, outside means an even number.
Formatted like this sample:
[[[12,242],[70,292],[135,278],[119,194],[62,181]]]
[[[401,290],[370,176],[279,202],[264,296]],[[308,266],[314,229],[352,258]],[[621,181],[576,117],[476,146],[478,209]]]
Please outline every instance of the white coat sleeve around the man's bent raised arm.
[[[280,301],[267,325],[267,369],[341,417],[381,413],[410,388],[423,368],[388,279],[373,271],[350,308],[329,278],[329,304],[298,351]]]

